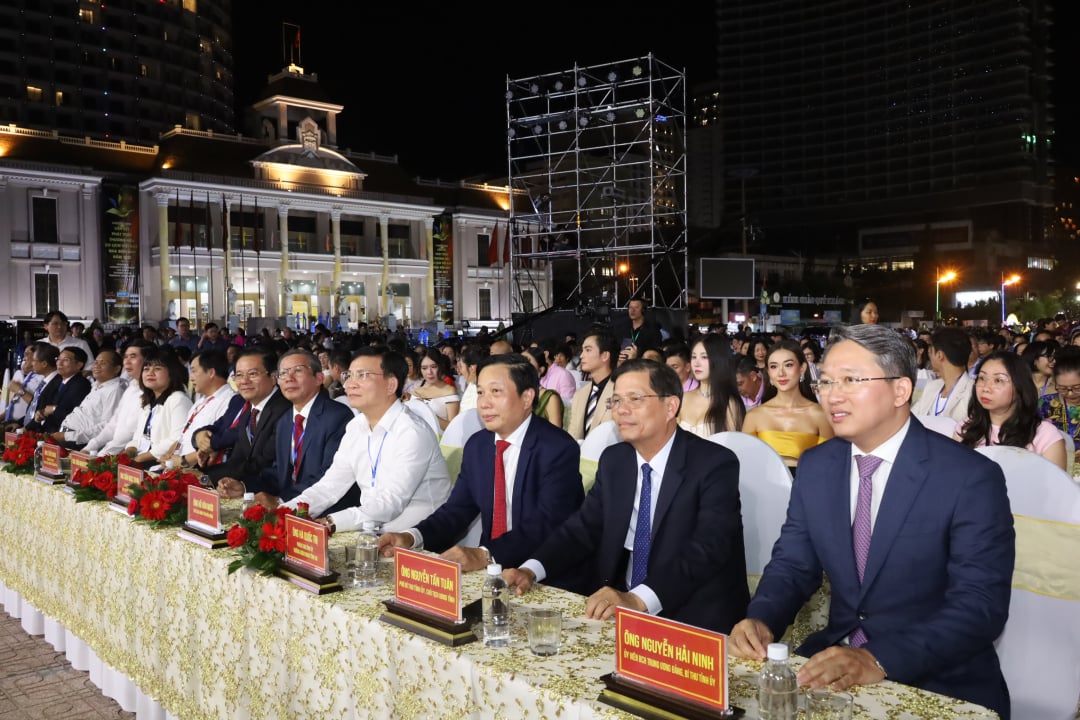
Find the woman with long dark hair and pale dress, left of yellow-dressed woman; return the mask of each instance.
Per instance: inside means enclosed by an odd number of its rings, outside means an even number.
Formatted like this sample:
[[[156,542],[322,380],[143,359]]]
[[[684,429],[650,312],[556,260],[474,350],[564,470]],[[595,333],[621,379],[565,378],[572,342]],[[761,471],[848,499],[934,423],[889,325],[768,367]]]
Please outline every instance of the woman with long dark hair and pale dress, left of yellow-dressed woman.
[[[683,394],[679,426],[701,437],[741,430],[746,408],[739,397],[734,363],[721,335],[705,335],[690,348],[690,370],[698,389]]]

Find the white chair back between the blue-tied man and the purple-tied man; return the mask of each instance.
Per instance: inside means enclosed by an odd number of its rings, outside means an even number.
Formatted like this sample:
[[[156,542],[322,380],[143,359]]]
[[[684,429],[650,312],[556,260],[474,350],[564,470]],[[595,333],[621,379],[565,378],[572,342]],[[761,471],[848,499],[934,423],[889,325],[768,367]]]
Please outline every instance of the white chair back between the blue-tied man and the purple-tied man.
[[[787,517],[792,473],[779,452],[753,435],[726,431],[715,433],[708,439],[728,448],[739,458],[739,500],[742,504],[746,573],[760,575],[772,557],[772,546],[780,538],[780,529]]]

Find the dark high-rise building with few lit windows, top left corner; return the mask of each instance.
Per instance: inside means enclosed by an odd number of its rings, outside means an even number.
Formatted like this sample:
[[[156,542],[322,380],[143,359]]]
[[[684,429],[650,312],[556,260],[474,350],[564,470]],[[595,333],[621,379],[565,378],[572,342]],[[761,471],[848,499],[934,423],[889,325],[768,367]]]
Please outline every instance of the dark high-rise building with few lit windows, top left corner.
[[[96,139],[234,133],[231,0],[0,3],[0,123]]]

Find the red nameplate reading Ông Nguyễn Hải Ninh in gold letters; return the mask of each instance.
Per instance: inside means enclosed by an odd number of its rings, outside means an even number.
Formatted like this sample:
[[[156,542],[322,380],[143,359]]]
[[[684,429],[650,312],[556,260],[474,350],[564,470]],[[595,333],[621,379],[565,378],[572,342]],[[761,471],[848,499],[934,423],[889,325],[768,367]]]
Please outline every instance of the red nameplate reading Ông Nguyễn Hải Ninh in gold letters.
[[[616,673],[706,707],[728,709],[727,636],[619,608]]]

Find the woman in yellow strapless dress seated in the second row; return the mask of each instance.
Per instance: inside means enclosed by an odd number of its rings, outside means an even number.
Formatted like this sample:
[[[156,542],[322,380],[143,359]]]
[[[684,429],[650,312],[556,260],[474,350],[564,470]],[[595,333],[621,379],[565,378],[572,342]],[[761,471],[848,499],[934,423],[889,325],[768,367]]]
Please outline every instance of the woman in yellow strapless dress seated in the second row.
[[[810,373],[801,348],[781,340],[766,359],[769,388],[761,404],[746,413],[743,432],[764,440],[794,467],[799,456],[833,437],[828,415],[810,390]]]

